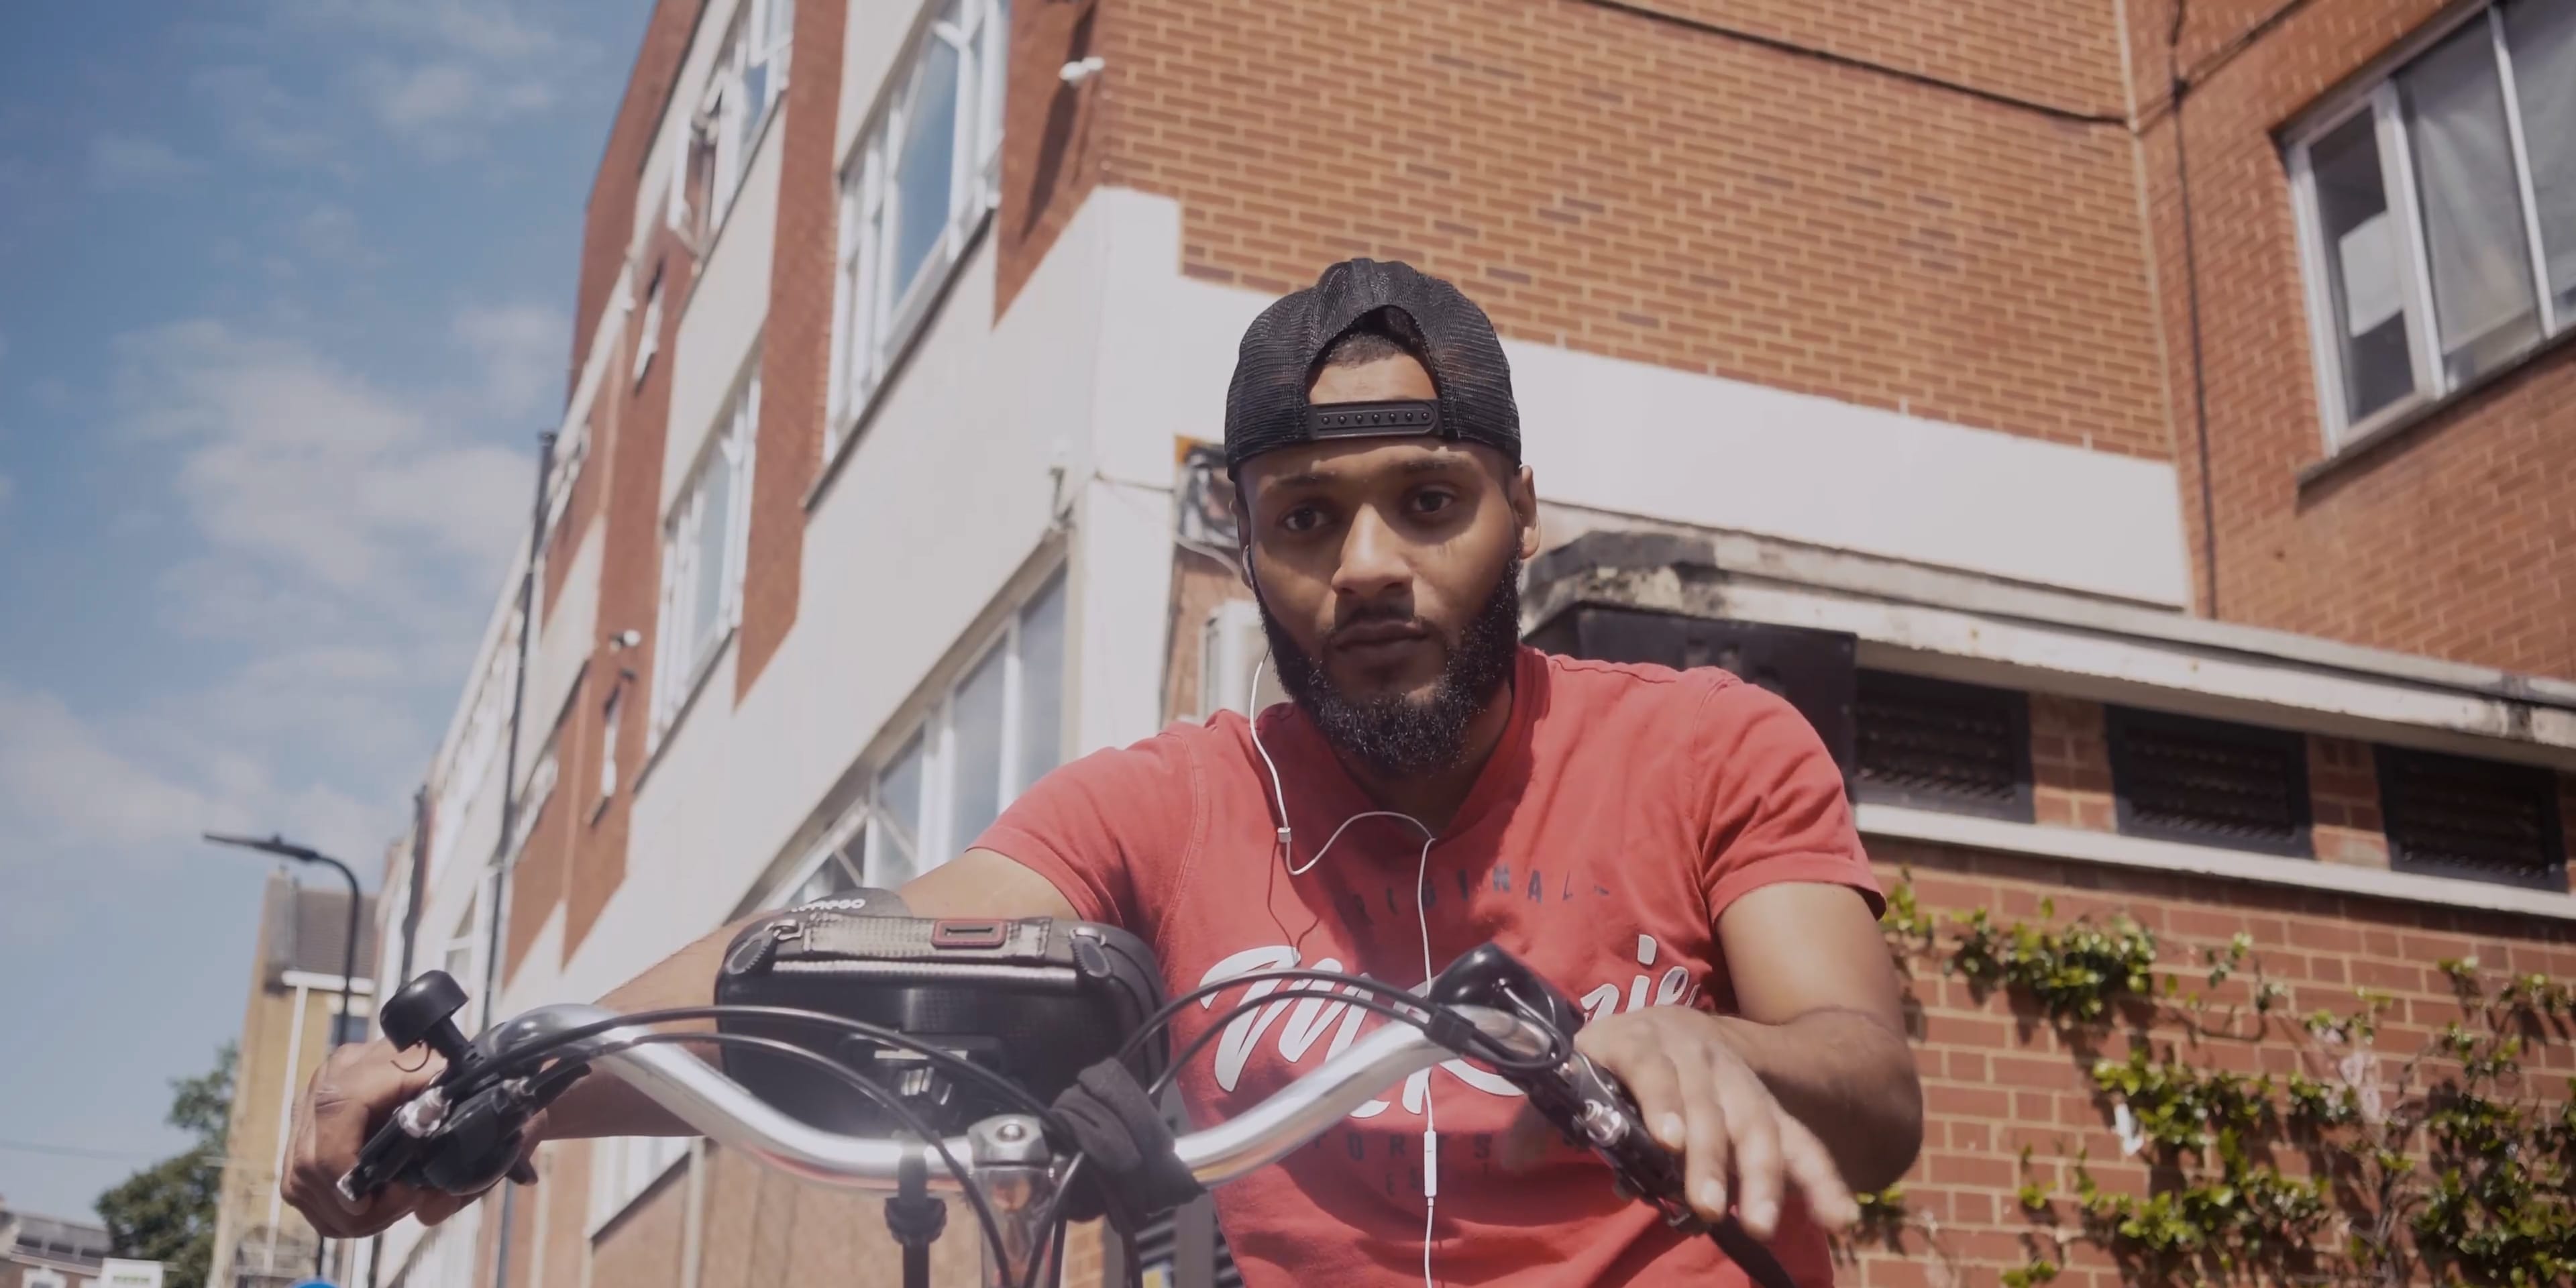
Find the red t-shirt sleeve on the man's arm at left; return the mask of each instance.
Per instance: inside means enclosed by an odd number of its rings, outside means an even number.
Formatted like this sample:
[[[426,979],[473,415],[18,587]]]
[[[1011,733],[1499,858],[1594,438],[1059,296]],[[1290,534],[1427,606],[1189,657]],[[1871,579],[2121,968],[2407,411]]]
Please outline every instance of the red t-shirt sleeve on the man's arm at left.
[[[1200,814],[1188,742],[1164,732],[1059,765],[1020,793],[976,850],[1054,881],[1087,922],[1154,935]]]

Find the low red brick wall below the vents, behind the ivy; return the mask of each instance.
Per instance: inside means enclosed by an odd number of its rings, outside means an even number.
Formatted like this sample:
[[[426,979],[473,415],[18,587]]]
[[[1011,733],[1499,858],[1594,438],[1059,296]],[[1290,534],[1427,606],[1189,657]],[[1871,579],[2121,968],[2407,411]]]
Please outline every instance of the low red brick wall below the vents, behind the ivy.
[[[2058,920],[2128,912],[2159,940],[2159,966],[2192,981],[2202,948],[2226,948],[2246,933],[2269,979],[2290,987],[2290,1012],[2318,1007],[2357,1010],[2354,987],[2398,994],[2383,1018],[2378,1051],[2403,1059],[2458,1018],[2447,979],[2434,958],[2478,956],[2488,971],[2545,971],[2576,979],[2576,933],[2566,922],[2470,914],[2378,899],[2344,899],[2295,889],[2236,886],[2208,878],[2133,873],[2089,863],[2007,858],[1932,845],[1873,845],[1883,881],[1914,876],[1924,909],[1989,909],[2002,920],[2038,920],[2040,899],[2053,899]],[[2205,981],[2202,981],[2205,984]],[[2241,992],[2241,981],[2231,984]],[[1924,1154],[1904,1180],[1911,1211],[1940,1224],[1935,1239],[1955,1257],[1960,1280],[1991,1285],[1996,1273],[2027,1260],[2014,1190],[2040,1180],[2063,1193],[2061,1154],[2089,1149],[2089,1167],[2105,1190],[2146,1193],[2141,1159],[2123,1159],[2110,1131],[2110,1105],[2094,1092],[2089,1069],[2099,1056],[2125,1059],[2128,1028],[2063,1036],[2045,1020],[2017,1012],[2004,994],[1978,999],[1963,979],[1917,969],[1911,994],[1917,1069],[1924,1079]],[[2159,1041],[2172,1030],[2156,1030]],[[2300,1069],[2298,1043],[2282,1033],[2259,1043],[2213,1041],[2213,1066],[2287,1074]],[[2527,1059],[2537,1084],[2576,1072],[2566,1043]],[[2311,1077],[2321,1069],[2306,1069]],[[2022,1177],[2017,1154],[2032,1149],[2038,1164]],[[2295,1175],[2298,1159],[2282,1157]],[[2061,1208],[2066,1208],[2061,1203]],[[2071,1221],[2069,1221],[2071,1226]],[[1906,1234],[1906,1255],[1868,1252],[1844,1283],[1870,1288],[1932,1288],[1940,1265],[1927,1239]],[[2123,1283],[2097,1255],[2081,1255],[2071,1288]]]

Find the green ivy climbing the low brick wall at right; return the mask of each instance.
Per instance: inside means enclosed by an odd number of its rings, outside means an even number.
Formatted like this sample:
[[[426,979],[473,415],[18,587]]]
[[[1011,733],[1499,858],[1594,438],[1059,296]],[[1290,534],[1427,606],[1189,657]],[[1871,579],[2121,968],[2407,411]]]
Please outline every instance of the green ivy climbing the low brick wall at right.
[[[2576,989],[2537,974],[2496,984],[2476,958],[2439,961],[2460,1018],[2421,1051],[2383,1059],[2388,994],[2360,989],[2349,1012],[2290,1020],[2287,989],[2264,979],[2246,935],[2202,953],[2202,992],[2159,974],[2159,943],[2130,917],[2050,925],[2048,904],[2040,925],[1984,909],[1935,917],[1911,884],[1888,909],[1888,948],[1909,969],[2007,989],[2069,1038],[2130,1030],[2128,1054],[2094,1061],[2092,1082],[2123,1149],[2151,1164],[2151,1188],[2105,1190],[2081,1151],[2066,1188],[2027,1180],[2030,1260],[2002,1275],[2007,1288],[2056,1280],[2079,1244],[2136,1285],[2576,1283],[2576,1079],[2548,1097],[2524,1074],[2540,1043],[2568,1041]],[[2246,1002],[2218,1005],[2239,974],[2251,976]],[[2249,1077],[2208,1059],[2215,1041],[2275,1036],[2295,1043],[2298,1072]],[[2306,1157],[2303,1175],[2282,1172],[2282,1154]],[[2025,1177],[2030,1162],[2025,1149]],[[1909,1218],[1901,1195],[1873,1200],[1865,1236],[1922,1229],[1937,1244],[1937,1226]]]

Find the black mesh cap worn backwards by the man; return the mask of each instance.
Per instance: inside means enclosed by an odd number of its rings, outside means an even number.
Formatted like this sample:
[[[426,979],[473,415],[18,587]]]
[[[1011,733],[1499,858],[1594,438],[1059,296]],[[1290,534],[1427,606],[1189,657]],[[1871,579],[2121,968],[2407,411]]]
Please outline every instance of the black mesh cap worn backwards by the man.
[[[1484,443],[1520,464],[1520,407],[1512,402],[1512,363],[1502,355],[1494,322],[1455,286],[1406,263],[1342,260],[1314,286],[1280,296],[1244,330],[1226,386],[1226,469],[1252,456],[1319,433],[1306,410],[1306,386],[1334,340],[1363,317],[1396,309],[1419,332],[1419,358],[1440,392],[1435,433],[1458,443]],[[1417,420],[1386,433],[1425,433]],[[1368,433],[1365,428],[1342,433]]]

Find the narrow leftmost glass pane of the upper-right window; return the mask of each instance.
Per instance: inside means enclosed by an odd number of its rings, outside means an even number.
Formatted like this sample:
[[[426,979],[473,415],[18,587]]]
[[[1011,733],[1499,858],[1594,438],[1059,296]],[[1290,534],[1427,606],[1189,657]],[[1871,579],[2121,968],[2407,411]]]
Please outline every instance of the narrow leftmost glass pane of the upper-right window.
[[[2370,111],[2318,139],[2308,149],[2308,167],[2316,175],[2316,222],[2326,242],[2344,415],[2360,422],[2414,392],[2406,273],[2398,260],[2406,242],[2388,211]]]

